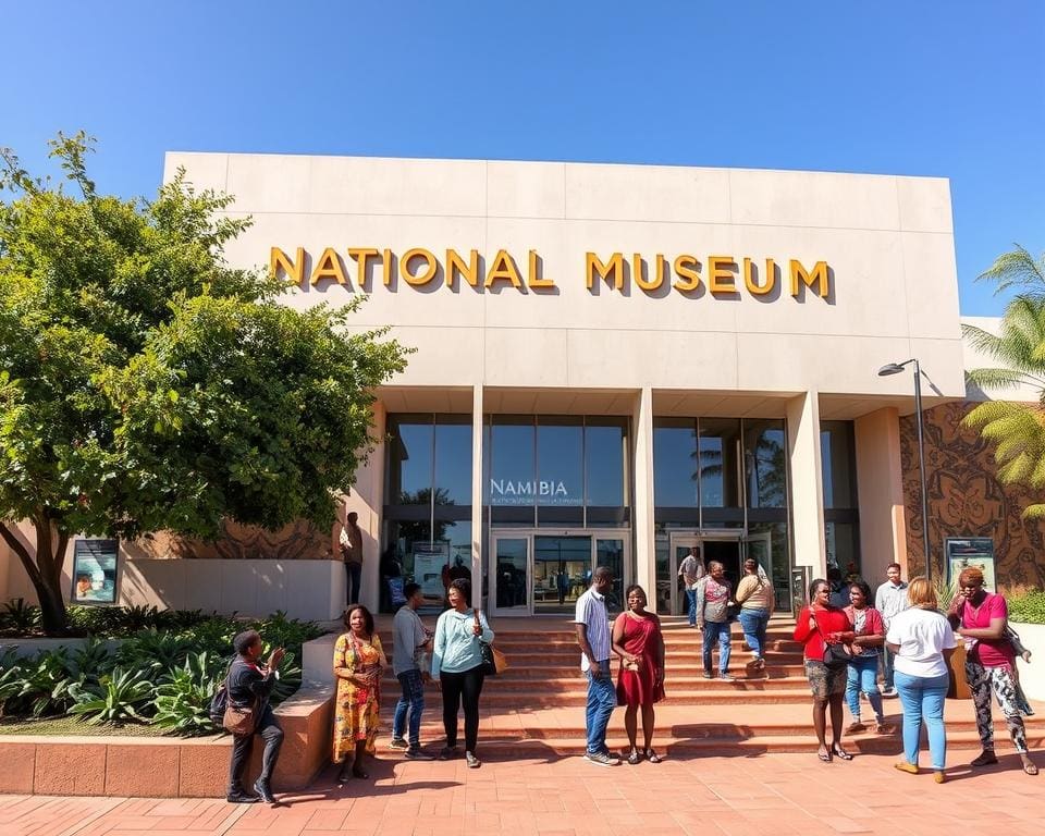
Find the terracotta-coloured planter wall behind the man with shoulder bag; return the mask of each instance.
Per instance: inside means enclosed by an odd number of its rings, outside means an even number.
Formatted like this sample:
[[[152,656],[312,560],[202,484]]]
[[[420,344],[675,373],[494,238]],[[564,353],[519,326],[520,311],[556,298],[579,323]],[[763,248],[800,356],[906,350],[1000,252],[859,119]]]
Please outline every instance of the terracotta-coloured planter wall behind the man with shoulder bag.
[[[307,787],[330,762],[334,691],[305,683],[275,710],[283,749],[272,777],[279,791]],[[232,738],[0,736],[0,794],[219,798]],[[261,767],[255,740],[248,778]]]

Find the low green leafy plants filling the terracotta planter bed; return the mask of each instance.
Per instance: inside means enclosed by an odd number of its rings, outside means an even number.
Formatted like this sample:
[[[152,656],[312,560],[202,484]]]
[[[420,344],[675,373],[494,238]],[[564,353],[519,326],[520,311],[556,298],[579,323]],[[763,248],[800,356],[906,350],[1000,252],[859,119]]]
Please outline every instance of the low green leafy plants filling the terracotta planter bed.
[[[232,660],[232,639],[242,630],[261,634],[265,653],[286,649],[276,704],[302,684],[302,644],[323,634],[311,622],[278,612],[268,618],[239,620],[198,612],[88,610],[94,624],[83,647],[41,651],[17,657],[0,655],[0,716],[79,716],[95,724],[145,723],[172,734],[202,735],[219,729],[210,721],[210,699]],[[104,615],[102,615],[104,614]],[[127,636],[115,652],[106,638]],[[162,626],[158,626],[162,625]]]

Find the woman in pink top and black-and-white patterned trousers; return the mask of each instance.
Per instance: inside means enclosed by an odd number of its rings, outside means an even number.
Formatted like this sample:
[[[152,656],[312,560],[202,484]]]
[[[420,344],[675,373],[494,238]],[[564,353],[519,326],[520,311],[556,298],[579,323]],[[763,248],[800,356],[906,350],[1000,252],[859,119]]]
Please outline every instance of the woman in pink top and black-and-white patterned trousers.
[[[1013,675],[1016,652],[1005,636],[1008,615],[1005,599],[983,588],[983,573],[973,567],[962,569],[947,617],[966,640],[966,678],[972,690],[976,729],[983,746],[972,765],[986,766],[998,762],[994,753],[994,720],[991,716],[991,691],[994,691],[1012,745],[1023,762],[1023,772],[1037,775],[1037,766],[1028,753],[1026,729],[1021,716],[1030,711]]]

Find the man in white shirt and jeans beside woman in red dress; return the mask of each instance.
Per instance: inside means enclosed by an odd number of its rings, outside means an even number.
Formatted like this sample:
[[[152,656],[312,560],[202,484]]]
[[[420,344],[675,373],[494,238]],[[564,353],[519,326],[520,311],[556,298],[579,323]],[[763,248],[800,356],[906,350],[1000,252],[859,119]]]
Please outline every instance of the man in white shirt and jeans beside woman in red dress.
[[[620,759],[606,748],[606,726],[617,704],[617,690],[610,675],[610,616],[606,592],[613,587],[613,573],[600,566],[591,576],[588,591],[577,599],[574,626],[580,644],[580,669],[588,677],[588,705],[585,727],[588,747],[585,758],[597,766],[619,766]]]

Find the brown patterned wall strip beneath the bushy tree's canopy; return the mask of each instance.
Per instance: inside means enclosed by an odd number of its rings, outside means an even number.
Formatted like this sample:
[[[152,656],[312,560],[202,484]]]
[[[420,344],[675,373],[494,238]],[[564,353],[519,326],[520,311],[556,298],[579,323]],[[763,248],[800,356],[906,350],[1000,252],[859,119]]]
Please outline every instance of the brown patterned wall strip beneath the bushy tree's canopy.
[[[311,524],[298,520],[279,531],[241,526],[225,520],[223,536],[212,543],[181,538],[160,531],[151,539],[135,543],[133,553],[142,557],[221,557],[232,561],[280,560],[307,561],[330,558],[330,534],[318,532]]]

